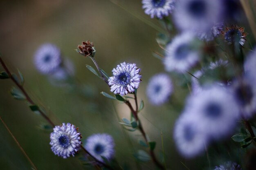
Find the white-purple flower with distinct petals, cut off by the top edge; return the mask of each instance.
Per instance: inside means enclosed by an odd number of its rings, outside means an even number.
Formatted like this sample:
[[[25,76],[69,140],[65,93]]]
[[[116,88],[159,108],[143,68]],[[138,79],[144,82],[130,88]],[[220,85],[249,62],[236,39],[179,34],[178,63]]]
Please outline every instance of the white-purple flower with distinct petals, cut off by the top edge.
[[[162,19],[173,11],[174,3],[175,0],[142,0],[142,8],[151,18]]]

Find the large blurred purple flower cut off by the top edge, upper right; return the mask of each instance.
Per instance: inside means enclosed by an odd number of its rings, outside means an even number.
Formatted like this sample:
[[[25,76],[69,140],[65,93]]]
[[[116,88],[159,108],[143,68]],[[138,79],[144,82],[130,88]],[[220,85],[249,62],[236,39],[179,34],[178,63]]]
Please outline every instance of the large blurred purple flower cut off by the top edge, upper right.
[[[220,22],[220,0],[179,0],[174,10],[174,21],[182,31],[204,32]]]

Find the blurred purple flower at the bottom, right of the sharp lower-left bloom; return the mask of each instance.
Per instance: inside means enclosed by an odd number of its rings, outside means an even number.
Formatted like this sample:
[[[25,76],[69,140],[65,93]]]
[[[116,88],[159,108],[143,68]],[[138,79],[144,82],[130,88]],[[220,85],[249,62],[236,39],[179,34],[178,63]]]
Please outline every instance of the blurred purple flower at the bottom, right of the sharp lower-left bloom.
[[[91,135],[85,143],[85,149],[102,162],[104,161],[102,157],[108,160],[114,157],[114,147],[114,139],[106,133]]]

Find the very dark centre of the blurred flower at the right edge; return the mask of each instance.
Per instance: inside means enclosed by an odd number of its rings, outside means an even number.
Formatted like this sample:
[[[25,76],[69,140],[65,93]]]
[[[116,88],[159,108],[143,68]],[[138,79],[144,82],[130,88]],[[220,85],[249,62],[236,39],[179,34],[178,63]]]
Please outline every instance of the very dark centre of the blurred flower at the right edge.
[[[242,106],[250,104],[253,97],[252,87],[249,85],[239,86],[236,89],[235,95]]]

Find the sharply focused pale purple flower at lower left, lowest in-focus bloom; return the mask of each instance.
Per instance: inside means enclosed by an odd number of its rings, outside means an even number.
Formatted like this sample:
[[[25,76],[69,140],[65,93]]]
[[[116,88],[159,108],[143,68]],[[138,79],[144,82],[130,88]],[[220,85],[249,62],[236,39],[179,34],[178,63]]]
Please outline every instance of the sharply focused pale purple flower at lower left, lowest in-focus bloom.
[[[66,159],[78,151],[81,146],[81,133],[78,128],[70,123],[63,123],[62,126],[55,126],[50,135],[52,152],[59,157]]]

